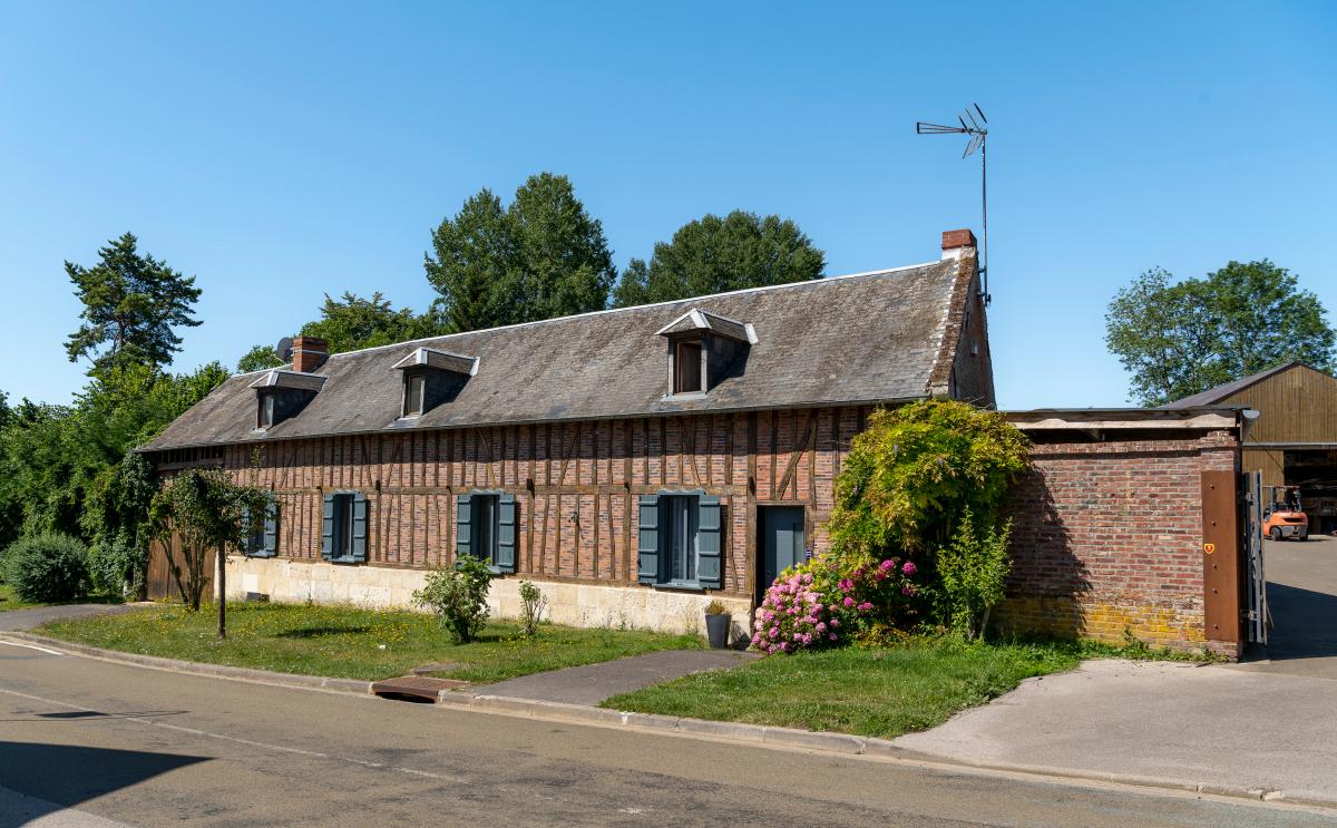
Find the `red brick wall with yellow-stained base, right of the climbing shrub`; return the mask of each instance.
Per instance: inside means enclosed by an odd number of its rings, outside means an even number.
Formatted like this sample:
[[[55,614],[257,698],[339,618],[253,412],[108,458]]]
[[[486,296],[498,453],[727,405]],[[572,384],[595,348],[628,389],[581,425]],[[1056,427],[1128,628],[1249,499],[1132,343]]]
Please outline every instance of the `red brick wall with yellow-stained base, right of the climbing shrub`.
[[[1201,472],[1229,432],[1034,447],[1017,487],[1003,626],[1119,642],[1205,642]]]

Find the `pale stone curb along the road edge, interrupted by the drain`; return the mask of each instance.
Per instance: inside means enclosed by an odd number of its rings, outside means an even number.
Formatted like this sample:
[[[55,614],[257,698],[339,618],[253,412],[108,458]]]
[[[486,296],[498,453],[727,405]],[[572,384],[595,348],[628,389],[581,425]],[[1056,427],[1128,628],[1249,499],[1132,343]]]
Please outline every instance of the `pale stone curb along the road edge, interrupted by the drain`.
[[[59,638],[33,635],[32,633],[4,631],[0,639],[11,638],[29,643],[59,647],[62,650],[108,661],[127,663],[154,670],[170,673],[186,673],[209,678],[226,678],[231,681],[249,681],[253,684],[278,685],[287,688],[301,688],[308,690],[325,690],[332,693],[346,693],[374,698],[370,681],[353,678],[324,678],[320,676],[303,676],[299,673],[274,673],[270,670],[253,670],[249,667],[233,667],[226,665],[202,663],[198,661],[179,661],[175,658],[160,658],[158,655],[140,655],[138,653],[123,653],[120,650],[104,650],[82,643],[71,643]],[[1055,768],[1050,765],[1025,765],[1004,762],[971,762],[947,756],[936,756],[919,750],[909,750],[896,745],[890,740],[850,736],[848,733],[825,733],[814,730],[798,730],[796,728],[777,728],[770,725],[750,725],[742,722],[711,721],[705,718],[690,718],[685,716],[660,716],[656,713],[631,713],[626,710],[610,710],[590,705],[572,705],[556,701],[540,701],[535,698],[517,698],[512,696],[491,696],[485,693],[473,694],[467,690],[441,690],[437,693],[437,706],[445,709],[468,709],[479,713],[500,713],[537,720],[575,721],[591,725],[611,726],[631,730],[650,730],[656,733],[675,733],[689,738],[718,738],[731,742],[754,744],[766,748],[786,748],[797,750],[821,750],[844,756],[866,756],[876,760],[913,762],[928,765],[944,772],[952,770],[991,770],[1001,773],[1023,773],[1028,776],[1044,777],[1048,780],[1076,780],[1111,785],[1128,785],[1136,788],[1152,788],[1159,791],[1173,791],[1177,793],[1197,793],[1205,796],[1219,796],[1229,799],[1243,799],[1255,803],[1277,803],[1306,808],[1337,809],[1337,797],[1322,797],[1313,795],[1288,796],[1285,791],[1243,787],[1218,785],[1205,783],[1178,783],[1173,780],[1134,776],[1127,773],[1110,773],[1096,770],[1074,770],[1071,768]]]

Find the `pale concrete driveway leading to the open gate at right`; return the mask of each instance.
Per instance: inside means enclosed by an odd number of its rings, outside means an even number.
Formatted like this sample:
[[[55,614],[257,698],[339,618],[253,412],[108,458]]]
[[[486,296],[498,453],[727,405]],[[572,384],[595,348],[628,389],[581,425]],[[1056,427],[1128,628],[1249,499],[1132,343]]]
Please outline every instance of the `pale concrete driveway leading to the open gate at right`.
[[[976,765],[1333,803],[1337,681],[1092,661],[893,744]]]

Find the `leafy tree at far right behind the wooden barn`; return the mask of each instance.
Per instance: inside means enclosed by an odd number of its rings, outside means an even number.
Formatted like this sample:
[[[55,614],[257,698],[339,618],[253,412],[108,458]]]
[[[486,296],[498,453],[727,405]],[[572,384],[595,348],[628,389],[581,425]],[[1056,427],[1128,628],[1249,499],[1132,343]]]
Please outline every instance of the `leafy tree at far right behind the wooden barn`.
[[[1330,371],[1337,344],[1318,297],[1267,260],[1230,262],[1173,281],[1159,268],[1120,289],[1106,345],[1131,375],[1132,397],[1161,405],[1282,363]]]

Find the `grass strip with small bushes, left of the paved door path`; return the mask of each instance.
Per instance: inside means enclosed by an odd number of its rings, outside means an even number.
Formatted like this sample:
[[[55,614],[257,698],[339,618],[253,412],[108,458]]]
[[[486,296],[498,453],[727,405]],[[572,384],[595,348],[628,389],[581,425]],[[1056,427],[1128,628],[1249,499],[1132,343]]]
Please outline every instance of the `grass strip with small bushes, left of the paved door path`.
[[[48,623],[35,631],[110,650],[336,678],[380,680],[428,663],[433,673],[493,682],[543,670],[701,646],[695,635],[541,625],[533,639],[517,625],[489,623],[479,641],[455,645],[420,613],[349,606],[238,603],[227,609],[227,641],[214,637],[217,613],[162,605],[126,615]]]

